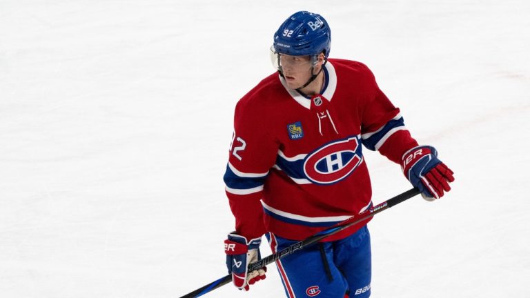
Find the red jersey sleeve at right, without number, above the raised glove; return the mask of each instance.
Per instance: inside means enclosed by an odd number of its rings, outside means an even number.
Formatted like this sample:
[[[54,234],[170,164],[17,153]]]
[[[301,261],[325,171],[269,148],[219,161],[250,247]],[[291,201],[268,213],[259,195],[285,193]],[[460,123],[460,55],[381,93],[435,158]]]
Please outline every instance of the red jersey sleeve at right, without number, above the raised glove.
[[[406,129],[400,109],[380,90],[372,72],[366,70],[369,89],[362,112],[362,143],[369,150],[378,150],[391,161],[400,163],[403,153],[418,146],[418,142]]]

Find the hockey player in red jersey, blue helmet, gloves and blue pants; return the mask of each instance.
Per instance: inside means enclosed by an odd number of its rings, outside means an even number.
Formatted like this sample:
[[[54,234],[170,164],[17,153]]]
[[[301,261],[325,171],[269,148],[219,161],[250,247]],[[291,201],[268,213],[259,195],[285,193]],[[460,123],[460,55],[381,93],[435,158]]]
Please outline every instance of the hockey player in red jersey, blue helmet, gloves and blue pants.
[[[224,181],[235,231],[226,264],[239,289],[265,278],[247,272],[262,235],[273,252],[369,208],[362,145],[399,163],[426,199],[449,191],[453,172],[418,146],[364,64],[328,59],[331,30],[301,11],[274,34],[271,74],[239,100]],[[369,297],[369,220],[277,261],[287,297]]]

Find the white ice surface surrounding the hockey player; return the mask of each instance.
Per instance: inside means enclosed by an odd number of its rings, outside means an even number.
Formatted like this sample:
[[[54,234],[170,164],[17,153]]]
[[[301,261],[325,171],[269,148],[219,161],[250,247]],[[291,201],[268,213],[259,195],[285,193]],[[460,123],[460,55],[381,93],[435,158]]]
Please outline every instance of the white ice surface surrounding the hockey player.
[[[369,225],[372,297],[530,297],[526,0],[0,0],[0,297],[180,297],[226,275],[233,108],[297,10],[455,171]],[[364,152],[375,203],[411,187]],[[269,269],[205,297],[284,297]]]

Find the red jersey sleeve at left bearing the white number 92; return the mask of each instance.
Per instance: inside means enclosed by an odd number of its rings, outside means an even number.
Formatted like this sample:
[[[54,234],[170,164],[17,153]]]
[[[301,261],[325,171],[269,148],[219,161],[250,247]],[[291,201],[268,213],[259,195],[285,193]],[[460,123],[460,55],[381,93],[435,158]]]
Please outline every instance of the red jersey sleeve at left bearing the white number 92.
[[[253,239],[265,232],[263,188],[278,151],[271,138],[263,111],[242,99],[235,108],[234,135],[226,165],[224,183],[239,235]]]

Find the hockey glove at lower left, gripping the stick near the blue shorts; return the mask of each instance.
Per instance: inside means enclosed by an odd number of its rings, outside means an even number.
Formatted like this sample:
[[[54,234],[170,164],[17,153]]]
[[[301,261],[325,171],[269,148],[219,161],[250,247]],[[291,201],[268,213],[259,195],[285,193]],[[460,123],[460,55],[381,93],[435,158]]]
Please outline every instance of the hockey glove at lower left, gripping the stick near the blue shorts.
[[[248,264],[261,259],[259,244],[261,238],[247,241],[245,237],[231,232],[228,239],[224,241],[224,252],[226,252],[226,267],[228,274],[232,274],[232,282],[239,290],[249,290],[248,285],[265,279],[266,267],[253,272],[247,272]]]

